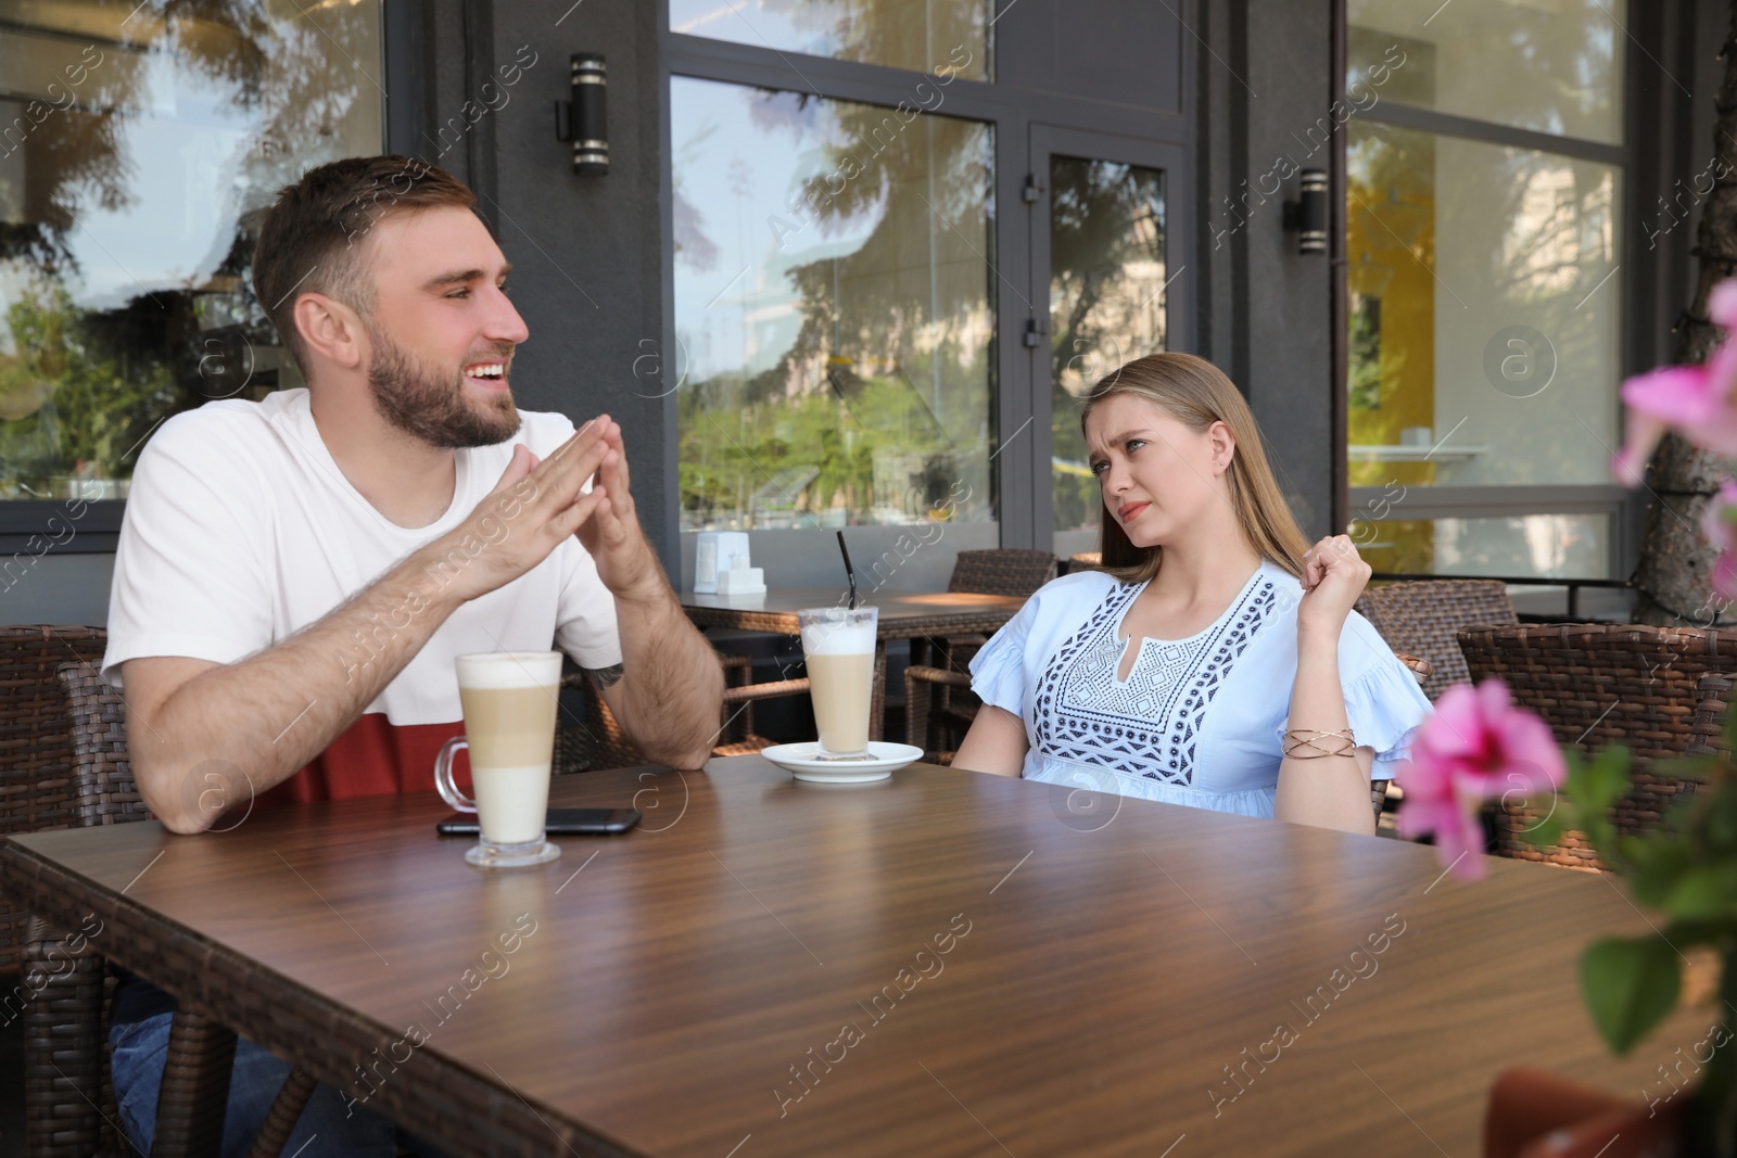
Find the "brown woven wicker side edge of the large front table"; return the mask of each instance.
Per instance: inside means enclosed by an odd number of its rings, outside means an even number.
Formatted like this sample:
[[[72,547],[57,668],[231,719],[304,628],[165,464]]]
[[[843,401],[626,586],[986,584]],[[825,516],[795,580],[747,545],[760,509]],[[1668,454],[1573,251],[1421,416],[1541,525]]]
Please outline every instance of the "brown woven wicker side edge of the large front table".
[[[186,839],[196,840],[198,837]],[[368,1059],[372,1052],[379,1050],[386,1057],[393,1043],[403,1038],[400,1031],[325,998],[104,884],[61,866],[17,844],[12,837],[0,837],[0,884],[16,905],[56,929],[78,929],[89,913],[96,913],[102,920],[102,929],[89,938],[89,951],[116,962],[170,993],[177,1002],[198,1005],[240,1036],[264,1045],[278,1057],[306,1069],[339,1090],[340,1095],[351,1089],[354,1075],[337,1071],[339,1054],[349,1052],[358,1059]],[[156,941],[165,951],[146,957],[139,950],[137,955],[132,955],[132,946],[151,941]],[[113,946],[120,946],[122,951],[111,951]],[[205,964],[201,965],[201,962]],[[217,967],[214,969],[212,964]],[[302,1038],[297,1040],[294,1033],[283,1031],[285,1019],[255,1014],[248,993],[250,986],[241,979],[248,970],[269,981],[269,988],[261,990],[261,993],[269,1003],[290,1014],[290,1021],[301,1026]],[[28,965],[24,972],[30,972]],[[575,1123],[559,1109],[532,1106],[504,1080],[481,1075],[431,1045],[420,1045],[410,1061],[417,1063],[419,1068],[429,1066],[433,1080],[380,1082],[379,1089],[370,1094],[367,1108],[379,1101],[382,1108],[391,1111],[389,1118],[400,1125],[412,1123],[405,1128],[417,1135],[433,1134],[443,1149],[450,1151],[452,1144],[457,1142],[460,1144],[459,1153],[474,1155],[547,1153],[551,1158],[559,1155],[648,1158],[643,1151],[629,1149],[617,1139]],[[459,1106],[488,1106],[488,1113],[478,1118],[455,1111],[455,1101],[443,1095],[445,1090],[455,1087],[479,1095],[459,1099]],[[417,1097],[417,1090],[422,1092],[422,1097]],[[492,1128],[485,1134],[478,1132],[476,1127]],[[511,1135],[507,1142],[511,1149],[500,1146],[500,1132]]]

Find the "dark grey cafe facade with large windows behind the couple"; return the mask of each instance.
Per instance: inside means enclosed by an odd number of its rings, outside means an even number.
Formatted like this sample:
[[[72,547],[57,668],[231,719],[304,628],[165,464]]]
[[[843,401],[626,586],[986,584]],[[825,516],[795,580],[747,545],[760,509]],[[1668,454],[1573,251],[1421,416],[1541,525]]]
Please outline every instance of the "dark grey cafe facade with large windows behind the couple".
[[[683,587],[712,530],[783,585],[837,580],[837,528],[889,590],[1091,550],[1075,399],[1159,349],[1377,571],[1633,569],[1615,389],[1673,354],[1721,175],[1713,0],[177,12],[0,7],[10,622],[101,625],[155,425],[299,382],[247,214],[380,149],[476,189],[519,405],[622,422]]]

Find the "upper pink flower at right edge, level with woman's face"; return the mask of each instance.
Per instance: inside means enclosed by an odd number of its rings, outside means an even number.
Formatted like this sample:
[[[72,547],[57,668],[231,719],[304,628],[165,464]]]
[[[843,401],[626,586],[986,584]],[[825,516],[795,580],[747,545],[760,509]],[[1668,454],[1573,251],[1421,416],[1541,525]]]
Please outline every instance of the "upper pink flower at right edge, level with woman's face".
[[[1707,316],[1723,330],[1737,330],[1737,280],[1721,281],[1707,295]],[[1628,438],[1610,462],[1622,486],[1640,486],[1647,460],[1664,432],[1674,429],[1702,450],[1737,455],[1737,342],[1727,337],[1701,366],[1666,366],[1622,384]]]

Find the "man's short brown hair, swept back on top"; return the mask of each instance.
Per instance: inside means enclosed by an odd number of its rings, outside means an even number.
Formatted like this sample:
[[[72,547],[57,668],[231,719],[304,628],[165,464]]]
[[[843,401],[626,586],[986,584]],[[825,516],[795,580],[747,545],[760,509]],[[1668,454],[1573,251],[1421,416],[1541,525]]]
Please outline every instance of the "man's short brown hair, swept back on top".
[[[452,205],[476,212],[476,194],[438,165],[413,156],[351,156],[302,174],[266,210],[254,250],[254,293],[307,373],[295,299],[314,292],[367,318],[373,286],[361,241],[389,214]]]

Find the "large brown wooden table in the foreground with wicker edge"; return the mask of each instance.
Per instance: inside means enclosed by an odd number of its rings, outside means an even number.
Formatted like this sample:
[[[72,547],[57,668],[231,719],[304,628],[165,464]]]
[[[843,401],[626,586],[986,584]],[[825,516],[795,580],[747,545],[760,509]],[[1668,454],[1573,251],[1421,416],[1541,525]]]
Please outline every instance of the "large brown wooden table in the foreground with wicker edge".
[[[528,870],[469,868],[408,795],[12,837],[0,885],[97,913],[101,951],[351,1095],[382,1066],[367,1104],[467,1156],[1473,1158],[1501,1068],[1638,1095],[1714,1019],[1603,1052],[1577,953],[1647,925],[1596,875],[1468,885],[1424,847],[1138,800],[1098,828],[921,766],[556,786],[636,797],[639,830]]]

